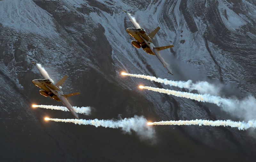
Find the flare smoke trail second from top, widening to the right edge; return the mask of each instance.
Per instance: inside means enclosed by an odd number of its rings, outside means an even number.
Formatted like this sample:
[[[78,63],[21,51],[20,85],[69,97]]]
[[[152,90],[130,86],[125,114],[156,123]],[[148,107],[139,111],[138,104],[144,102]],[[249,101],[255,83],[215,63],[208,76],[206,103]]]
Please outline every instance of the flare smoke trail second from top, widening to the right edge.
[[[140,88],[152,90],[155,92],[165,93],[168,95],[175,95],[177,97],[184,97],[199,102],[209,102],[220,106],[224,111],[231,113],[233,116],[237,116],[246,120],[255,119],[256,116],[256,99],[249,95],[243,100],[221,98],[220,96],[213,96],[209,94],[194,94],[189,92],[180,92],[163,88],[144,87]]]

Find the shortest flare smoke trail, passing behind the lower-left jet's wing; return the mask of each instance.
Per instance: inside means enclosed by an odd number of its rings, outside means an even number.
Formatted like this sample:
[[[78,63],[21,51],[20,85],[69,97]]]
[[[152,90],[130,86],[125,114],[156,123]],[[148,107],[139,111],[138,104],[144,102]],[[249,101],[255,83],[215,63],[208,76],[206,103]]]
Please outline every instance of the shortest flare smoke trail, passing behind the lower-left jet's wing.
[[[44,108],[44,109],[52,109],[52,110],[61,110],[61,111],[69,111],[65,106],[53,106],[53,105],[32,105],[34,108]],[[76,107],[73,106],[73,109],[76,113],[90,115],[91,114],[91,107]]]

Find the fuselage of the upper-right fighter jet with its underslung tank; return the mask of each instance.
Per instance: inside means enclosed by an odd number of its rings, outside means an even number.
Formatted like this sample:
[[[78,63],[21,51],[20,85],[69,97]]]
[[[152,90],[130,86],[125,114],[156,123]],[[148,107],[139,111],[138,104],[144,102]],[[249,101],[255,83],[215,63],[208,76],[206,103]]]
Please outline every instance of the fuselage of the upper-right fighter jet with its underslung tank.
[[[152,39],[146,34],[146,31],[143,28],[127,28],[126,31],[134,38],[137,40],[137,42],[132,42],[133,46],[136,48],[142,48],[146,53],[155,55],[155,53],[151,50],[151,48],[145,43],[144,40],[147,41],[147,43],[155,47],[154,44],[152,43]],[[134,45],[136,44],[136,45]]]

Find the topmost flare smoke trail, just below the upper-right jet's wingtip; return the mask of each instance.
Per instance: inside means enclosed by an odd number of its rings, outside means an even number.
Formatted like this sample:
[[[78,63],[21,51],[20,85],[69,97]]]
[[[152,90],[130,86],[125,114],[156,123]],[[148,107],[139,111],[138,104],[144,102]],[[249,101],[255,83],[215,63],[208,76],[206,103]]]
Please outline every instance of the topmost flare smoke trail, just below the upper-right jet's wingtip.
[[[175,86],[179,88],[187,88],[189,91],[197,90],[200,94],[211,94],[211,95],[219,95],[220,86],[215,86],[213,84],[208,83],[207,81],[198,81],[193,83],[191,80],[188,81],[172,81],[162,78],[156,78],[154,76],[143,75],[143,74],[129,74],[122,73],[122,75],[132,76],[136,78],[143,78],[150,81],[155,81],[158,83],[164,83],[165,85]]]

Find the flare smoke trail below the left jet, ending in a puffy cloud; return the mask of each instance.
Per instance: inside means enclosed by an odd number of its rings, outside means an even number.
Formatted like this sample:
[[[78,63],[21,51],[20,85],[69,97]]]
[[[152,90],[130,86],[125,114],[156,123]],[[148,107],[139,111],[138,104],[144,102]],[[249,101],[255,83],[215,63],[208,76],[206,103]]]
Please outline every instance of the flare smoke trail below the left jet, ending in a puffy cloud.
[[[75,123],[79,125],[93,125],[95,127],[105,128],[121,128],[124,132],[131,134],[132,130],[139,135],[140,139],[155,139],[156,132],[152,127],[148,126],[148,121],[143,116],[134,116],[132,118],[124,118],[122,120],[85,120],[85,119],[52,119],[45,118],[55,122]]]

